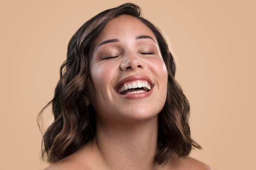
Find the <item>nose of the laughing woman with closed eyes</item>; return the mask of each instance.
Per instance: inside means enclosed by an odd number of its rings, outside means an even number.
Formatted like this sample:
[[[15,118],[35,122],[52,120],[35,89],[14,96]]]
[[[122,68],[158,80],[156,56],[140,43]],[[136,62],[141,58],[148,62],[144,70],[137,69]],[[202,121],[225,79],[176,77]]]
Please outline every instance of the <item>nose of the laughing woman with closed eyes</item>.
[[[144,68],[144,62],[137,54],[129,54],[123,57],[120,64],[122,71],[134,70],[136,68]]]

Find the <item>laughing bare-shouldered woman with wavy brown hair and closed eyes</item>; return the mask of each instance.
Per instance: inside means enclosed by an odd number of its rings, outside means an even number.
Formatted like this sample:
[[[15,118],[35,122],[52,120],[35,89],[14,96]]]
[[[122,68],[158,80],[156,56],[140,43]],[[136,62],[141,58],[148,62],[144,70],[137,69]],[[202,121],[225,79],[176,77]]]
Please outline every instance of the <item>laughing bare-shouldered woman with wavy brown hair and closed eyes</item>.
[[[94,16],[71,38],[43,137],[47,170],[210,169],[188,157],[189,103],[159,30],[135,4]]]

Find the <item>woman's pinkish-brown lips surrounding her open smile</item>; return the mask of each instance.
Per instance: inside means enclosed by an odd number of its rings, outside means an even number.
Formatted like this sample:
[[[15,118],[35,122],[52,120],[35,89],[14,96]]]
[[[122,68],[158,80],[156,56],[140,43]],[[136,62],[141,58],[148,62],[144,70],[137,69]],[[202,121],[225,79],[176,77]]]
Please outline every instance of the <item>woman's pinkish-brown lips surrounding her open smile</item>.
[[[147,81],[150,84],[150,86],[151,86],[151,90],[148,91],[148,92],[145,92],[145,93],[126,94],[126,95],[121,95],[121,94],[118,93],[117,89],[121,85],[123,85],[123,84],[125,84],[127,82],[138,81],[138,80]],[[121,81],[118,82],[118,84],[115,86],[115,91],[119,95],[121,95],[122,97],[134,99],[134,98],[141,98],[141,97],[146,97],[146,96],[150,95],[152,93],[152,91],[153,91],[153,89],[152,89],[153,86],[154,86],[153,82],[152,82],[152,80],[148,76],[146,76],[146,75],[133,75],[133,76],[128,76],[128,77],[125,77],[124,79],[121,79]]]

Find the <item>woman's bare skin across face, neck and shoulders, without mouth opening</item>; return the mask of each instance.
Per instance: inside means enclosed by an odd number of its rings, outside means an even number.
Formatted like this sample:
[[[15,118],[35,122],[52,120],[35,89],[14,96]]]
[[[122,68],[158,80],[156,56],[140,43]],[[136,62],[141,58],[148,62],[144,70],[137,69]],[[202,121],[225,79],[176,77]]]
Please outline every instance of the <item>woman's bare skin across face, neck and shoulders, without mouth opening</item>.
[[[158,113],[167,89],[154,33],[137,18],[121,15],[108,22],[93,46],[85,101],[96,112],[94,139],[46,170],[211,170],[191,157],[170,158],[165,166],[154,161]],[[148,82],[152,89],[118,93],[122,84],[136,81]]]

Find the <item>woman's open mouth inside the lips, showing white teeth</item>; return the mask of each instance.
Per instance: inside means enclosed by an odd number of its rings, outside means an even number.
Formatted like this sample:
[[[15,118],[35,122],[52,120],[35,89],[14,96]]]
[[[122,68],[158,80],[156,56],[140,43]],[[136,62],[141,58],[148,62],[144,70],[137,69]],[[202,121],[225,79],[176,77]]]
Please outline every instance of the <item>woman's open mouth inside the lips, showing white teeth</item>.
[[[125,83],[117,89],[118,93],[121,95],[144,93],[151,89],[151,85],[147,81],[135,81],[130,83]]]

